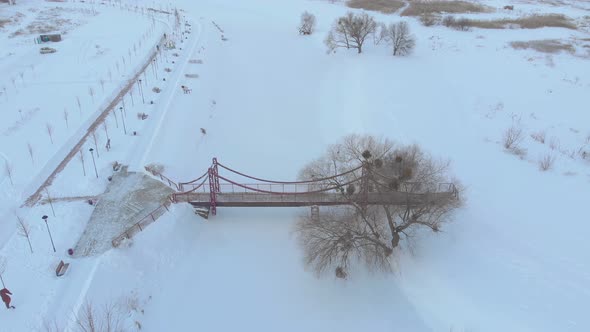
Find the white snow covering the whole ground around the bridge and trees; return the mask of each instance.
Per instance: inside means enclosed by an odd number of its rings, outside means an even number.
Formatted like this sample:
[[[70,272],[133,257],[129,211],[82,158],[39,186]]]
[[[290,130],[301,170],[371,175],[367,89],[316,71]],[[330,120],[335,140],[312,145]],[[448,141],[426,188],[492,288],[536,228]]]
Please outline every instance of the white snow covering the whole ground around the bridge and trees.
[[[350,10],[341,2],[17,2],[0,4],[0,22],[11,19],[0,28],[0,272],[16,306],[0,310],[0,331],[77,331],[88,300],[122,301],[129,331],[590,330],[590,3],[513,1],[507,12],[509,1],[485,1],[498,10],[467,15],[560,13],[577,30],[457,31],[371,12],[410,24],[416,49],[393,57],[372,41],[360,55],[326,53],[332,22]],[[166,14],[174,8],[180,28]],[[304,10],[318,19],[305,37]],[[63,41],[42,45],[57,52],[39,54],[31,22],[60,18],[52,32]],[[162,49],[136,81],[164,33],[176,49]],[[573,52],[510,46],[545,39]],[[23,205],[130,82],[96,143],[83,143],[83,161],[77,154],[39,203]],[[523,131],[520,154],[503,147],[510,127]],[[217,157],[294,180],[350,133],[418,143],[449,158],[466,186],[454,222],[401,253],[393,274],[306,270],[293,234],[304,208],[220,208],[205,221],[177,204],[120,248],[68,257],[92,214],[82,198],[105,190],[114,161],[132,171],[161,163],[188,181]],[[58,278],[62,259],[71,266]]]

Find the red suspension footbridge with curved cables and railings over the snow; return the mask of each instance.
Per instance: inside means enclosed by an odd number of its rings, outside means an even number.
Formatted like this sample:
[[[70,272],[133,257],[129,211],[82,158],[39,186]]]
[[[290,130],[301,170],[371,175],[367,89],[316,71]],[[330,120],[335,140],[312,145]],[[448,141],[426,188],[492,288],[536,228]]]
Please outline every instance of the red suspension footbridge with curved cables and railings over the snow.
[[[425,184],[402,182],[395,190],[374,190],[367,163],[325,178],[302,181],[276,181],[250,176],[236,171],[213,158],[209,169],[200,177],[176,183],[163,175],[161,180],[176,189],[173,203],[190,203],[215,215],[217,207],[301,207],[349,205],[422,205],[457,197],[452,183]],[[242,180],[233,180],[239,178]],[[347,192],[354,185],[358,190]]]

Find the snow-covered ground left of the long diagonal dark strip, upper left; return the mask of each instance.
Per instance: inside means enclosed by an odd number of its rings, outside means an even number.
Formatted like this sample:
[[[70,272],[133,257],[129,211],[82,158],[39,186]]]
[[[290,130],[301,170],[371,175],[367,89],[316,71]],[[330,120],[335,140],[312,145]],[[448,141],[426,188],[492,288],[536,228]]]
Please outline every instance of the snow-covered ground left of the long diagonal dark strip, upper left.
[[[66,15],[76,24],[62,26],[63,30],[58,31],[64,35],[62,42],[51,44],[58,50],[54,54],[39,54],[39,46],[32,46],[37,35],[30,32],[3,42],[2,46],[12,51],[0,61],[6,73],[1,101],[6,121],[0,128],[4,137],[0,151],[8,160],[2,165],[3,174],[10,167],[14,183],[3,183],[3,219],[14,219],[11,215],[16,207],[45,181],[104,105],[127,84],[141,54],[154,47],[166,28],[122,8],[98,6],[92,10],[87,5],[67,3],[34,10],[26,6],[7,9],[16,13],[28,10],[31,20],[47,24],[53,21],[42,13],[56,15],[56,22],[61,22],[60,15]],[[120,27],[105,24],[110,20],[134,24],[121,35]],[[16,21],[3,30],[7,34],[28,31],[25,23]],[[12,227],[7,224],[0,226],[3,236],[14,229],[12,223]]]

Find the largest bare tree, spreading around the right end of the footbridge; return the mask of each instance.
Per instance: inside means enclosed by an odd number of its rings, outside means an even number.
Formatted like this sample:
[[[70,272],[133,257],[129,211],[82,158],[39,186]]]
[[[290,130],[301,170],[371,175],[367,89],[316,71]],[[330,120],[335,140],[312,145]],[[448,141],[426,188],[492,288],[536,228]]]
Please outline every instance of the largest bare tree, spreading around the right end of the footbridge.
[[[348,136],[331,146],[300,178],[320,179],[316,189],[334,188],[346,205],[322,208],[321,215],[297,223],[306,263],[318,274],[335,268],[340,278],[356,262],[391,270],[401,240],[411,247],[418,229],[440,231],[460,206],[448,168],[418,146],[371,136]]]

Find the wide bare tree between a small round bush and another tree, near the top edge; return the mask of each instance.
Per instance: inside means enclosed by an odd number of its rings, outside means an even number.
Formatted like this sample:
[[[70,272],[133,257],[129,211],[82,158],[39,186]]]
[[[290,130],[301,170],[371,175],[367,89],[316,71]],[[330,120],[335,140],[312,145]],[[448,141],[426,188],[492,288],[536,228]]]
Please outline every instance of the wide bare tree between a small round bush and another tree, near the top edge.
[[[367,36],[375,33],[376,28],[377,23],[369,14],[348,12],[334,22],[324,42],[330,52],[346,47],[356,48],[358,53],[362,53]]]

